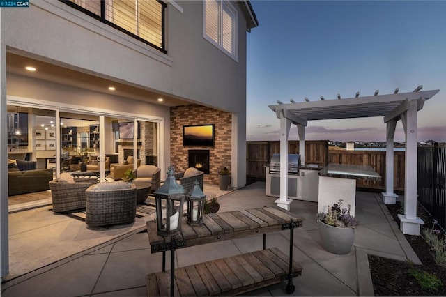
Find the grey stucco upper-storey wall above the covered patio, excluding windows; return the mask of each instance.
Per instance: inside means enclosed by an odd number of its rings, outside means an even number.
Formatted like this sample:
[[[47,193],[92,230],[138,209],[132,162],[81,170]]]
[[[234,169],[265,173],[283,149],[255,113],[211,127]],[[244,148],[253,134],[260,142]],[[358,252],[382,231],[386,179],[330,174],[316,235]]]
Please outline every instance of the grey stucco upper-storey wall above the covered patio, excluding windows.
[[[244,14],[238,13],[242,50],[234,61],[203,38],[203,3],[178,4],[183,13],[170,5],[166,9],[167,54],[60,1],[3,10],[1,41],[11,51],[50,63],[239,112],[246,87]]]

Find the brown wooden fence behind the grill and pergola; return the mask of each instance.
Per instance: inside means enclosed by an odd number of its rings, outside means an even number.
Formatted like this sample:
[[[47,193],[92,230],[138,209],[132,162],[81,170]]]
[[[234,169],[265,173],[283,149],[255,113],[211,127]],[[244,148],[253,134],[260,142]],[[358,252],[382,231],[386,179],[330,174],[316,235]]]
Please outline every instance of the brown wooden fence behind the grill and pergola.
[[[289,141],[289,153],[299,153],[299,142]],[[280,153],[280,142],[247,142],[247,179],[265,181],[265,166],[273,153]],[[404,151],[394,151],[394,190],[404,191]],[[328,149],[328,141],[305,142],[305,164],[328,163],[370,165],[380,176],[380,181],[357,181],[357,188],[385,190],[385,151],[337,151]]]

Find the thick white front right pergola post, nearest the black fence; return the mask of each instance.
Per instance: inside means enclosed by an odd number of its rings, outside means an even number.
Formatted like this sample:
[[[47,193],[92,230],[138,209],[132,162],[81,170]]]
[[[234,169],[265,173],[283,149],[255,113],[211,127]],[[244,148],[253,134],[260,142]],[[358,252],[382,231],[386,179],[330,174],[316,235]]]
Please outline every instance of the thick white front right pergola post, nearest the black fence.
[[[417,217],[417,100],[408,102],[408,109],[401,114],[406,133],[406,179],[404,186],[404,214],[398,215],[403,234],[420,235],[423,220]]]

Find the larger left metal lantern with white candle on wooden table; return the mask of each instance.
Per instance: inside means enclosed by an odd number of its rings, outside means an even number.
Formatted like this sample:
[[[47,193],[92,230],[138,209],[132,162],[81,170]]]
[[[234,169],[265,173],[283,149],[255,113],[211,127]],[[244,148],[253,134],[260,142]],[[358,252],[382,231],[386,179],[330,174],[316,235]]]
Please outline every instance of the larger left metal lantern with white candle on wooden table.
[[[174,167],[170,166],[164,184],[154,192],[156,203],[157,234],[169,236],[181,228],[184,188],[175,180]]]

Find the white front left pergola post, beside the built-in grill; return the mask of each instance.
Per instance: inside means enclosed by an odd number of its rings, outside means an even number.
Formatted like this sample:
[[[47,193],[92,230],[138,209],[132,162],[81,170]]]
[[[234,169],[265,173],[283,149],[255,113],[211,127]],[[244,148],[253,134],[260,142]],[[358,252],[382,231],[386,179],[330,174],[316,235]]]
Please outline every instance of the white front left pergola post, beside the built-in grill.
[[[280,116],[280,197],[275,201],[277,206],[290,210],[292,200],[288,199],[288,135],[291,120],[283,113]]]

